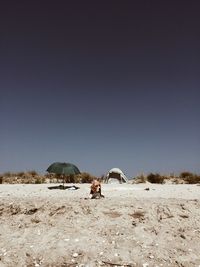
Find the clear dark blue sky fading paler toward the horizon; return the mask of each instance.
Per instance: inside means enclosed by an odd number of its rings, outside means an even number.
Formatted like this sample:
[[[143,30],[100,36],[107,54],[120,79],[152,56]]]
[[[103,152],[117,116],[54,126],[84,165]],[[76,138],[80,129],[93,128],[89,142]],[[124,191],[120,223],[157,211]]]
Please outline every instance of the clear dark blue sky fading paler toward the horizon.
[[[200,172],[200,4],[148,2],[3,1],[0,173]]]

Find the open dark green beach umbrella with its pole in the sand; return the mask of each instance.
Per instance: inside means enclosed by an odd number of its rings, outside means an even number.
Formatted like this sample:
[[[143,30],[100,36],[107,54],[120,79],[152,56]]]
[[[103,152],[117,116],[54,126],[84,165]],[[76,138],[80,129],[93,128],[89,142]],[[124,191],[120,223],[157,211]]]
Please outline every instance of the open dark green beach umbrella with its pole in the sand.
[[[63,177],[63,187],[65,176],[80,174],[78,167],[72,163],[54,162],[48,168],[47,172],[59,174]]]

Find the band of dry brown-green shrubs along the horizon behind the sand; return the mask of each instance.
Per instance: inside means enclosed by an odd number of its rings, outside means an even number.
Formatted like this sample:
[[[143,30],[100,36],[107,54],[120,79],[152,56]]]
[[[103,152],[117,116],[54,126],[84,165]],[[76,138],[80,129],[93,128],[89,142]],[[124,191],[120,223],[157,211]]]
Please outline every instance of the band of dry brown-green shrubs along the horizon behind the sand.
[[[65,183],[91,183],[93,179],[98,177],[83,172],[78,175],[65,176]],[[104,181],[104,176],[100,179]],[[5,172],[0,174],[0,184],[43,184],[43,183],[61,183],[63,178],[56,174],[38,174],[36,171],[31,170],[27,172]],[[197,184],[200,183],[200,175],[191,172],[182,172],[179,175],[169,174],[161,175],[159,173],[149,173],[147,175],[141,174],[130,180],[130,183],[156,183],[156,184]]]

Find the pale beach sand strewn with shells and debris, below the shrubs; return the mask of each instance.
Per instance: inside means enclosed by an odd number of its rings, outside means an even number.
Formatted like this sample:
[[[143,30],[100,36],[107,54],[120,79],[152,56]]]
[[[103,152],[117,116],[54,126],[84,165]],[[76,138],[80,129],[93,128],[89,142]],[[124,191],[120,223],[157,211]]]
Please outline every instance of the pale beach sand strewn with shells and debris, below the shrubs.
[[[200,266],[200,186],[48,186],[0,185],[0,266]]]

